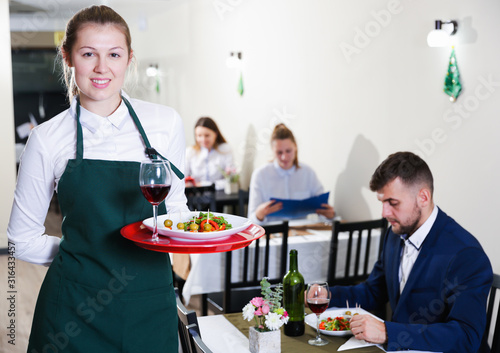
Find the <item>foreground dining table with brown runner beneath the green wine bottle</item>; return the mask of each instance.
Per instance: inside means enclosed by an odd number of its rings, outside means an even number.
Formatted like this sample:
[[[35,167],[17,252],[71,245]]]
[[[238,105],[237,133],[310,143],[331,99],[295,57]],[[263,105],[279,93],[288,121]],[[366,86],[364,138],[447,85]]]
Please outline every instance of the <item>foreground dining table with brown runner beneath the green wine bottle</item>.
[[[243,319],[241,313],[211,315],[198,317],[201,337],[203,342],[212,350],[213,353],[248,353],[248,330],[252,322]],[[326,336],[330,341],[323,347],[313,347],[307,343],[311,338],[316,337],[316,331],[306,325],[304,335],[298,337],[288,337],[281,328],[281,351],[287,353],[295,352],[336,352],[349,338]],[[375,346],[357,348],[356,353],[374,353],[382,352]]]

